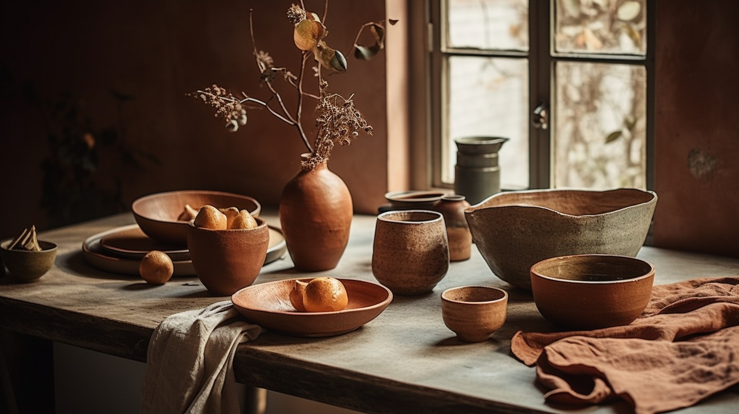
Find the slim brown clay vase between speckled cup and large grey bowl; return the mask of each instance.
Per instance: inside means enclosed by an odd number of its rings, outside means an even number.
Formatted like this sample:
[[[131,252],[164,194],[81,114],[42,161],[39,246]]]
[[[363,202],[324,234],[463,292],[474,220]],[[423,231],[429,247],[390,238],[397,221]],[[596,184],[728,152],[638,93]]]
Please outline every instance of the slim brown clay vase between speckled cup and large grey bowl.
[[[464,217],[464,209],[469,206],[465,197],[457,194],[443,195],[434,206],[434,210],[444,216],[446,237],[449,238],[449,260],[452,262],[469,259],[471,254],[472,234]]]

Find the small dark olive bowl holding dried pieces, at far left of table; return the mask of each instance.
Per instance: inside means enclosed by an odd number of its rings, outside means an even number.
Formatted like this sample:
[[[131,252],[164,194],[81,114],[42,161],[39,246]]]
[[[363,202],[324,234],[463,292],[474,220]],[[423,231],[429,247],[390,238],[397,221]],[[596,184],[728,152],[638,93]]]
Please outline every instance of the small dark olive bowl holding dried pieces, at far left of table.
[[[38,240],[41,251],[27,251],[7,248],[13,240],[7,240],[0,245],[2,263],[10,272],[10,277],[16,282],[33,282],[44,276],[54,265],[56,259],[56,244]]]

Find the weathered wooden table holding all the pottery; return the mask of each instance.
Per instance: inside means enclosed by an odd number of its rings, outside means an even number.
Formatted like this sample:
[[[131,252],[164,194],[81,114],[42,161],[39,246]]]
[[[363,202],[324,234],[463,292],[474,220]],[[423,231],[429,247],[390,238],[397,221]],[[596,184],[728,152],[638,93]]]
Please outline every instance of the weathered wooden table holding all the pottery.
[[[263,214],[278,225],[274,214]],[[172,313],[227,299],[211,296],[195,277],[163,286],[99,271],[84,261],[86,237],[134,223],[121,214],[41,234],[59,245],[55,267],[38,282],[0,285],[0,327],[48,341],[146,362],[154,328]],[[374,280],[371,270],[375,217],[354,219],[350,245],[338,267],[320,272]],[[655,283],[699,276],[739,274],[739,260],[645,247],[639,257],[657,269]],[[289,255],[263,268],[256,282],[302,276]],[[508,319],[488,342],[458,342],[441,319],[440,293],[459,285],[486,284],[510,294]],[[543,402],[534,368],[510,355],[517,330],[551,330],[531,293],[511,288],[488,269],[477,249],[452,262],[433,293],[395,296],[378,318],[354,332],[318,339],[264,333],[239,347],[238,381],[368,413],[627,413],[626,405],[558,410]],[[732,387],[679,413],[735,413]]]

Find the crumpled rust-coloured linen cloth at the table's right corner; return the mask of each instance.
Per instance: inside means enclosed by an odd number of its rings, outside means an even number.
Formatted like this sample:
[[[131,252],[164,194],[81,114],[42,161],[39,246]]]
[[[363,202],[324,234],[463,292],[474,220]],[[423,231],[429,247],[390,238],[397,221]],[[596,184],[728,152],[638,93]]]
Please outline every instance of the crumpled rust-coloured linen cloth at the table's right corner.
[[[623,398],[637,414],[688,407],[739,383],[739,276],[655,285],[630,325],[518,332],[511,351],[537,365],[551,404]]]

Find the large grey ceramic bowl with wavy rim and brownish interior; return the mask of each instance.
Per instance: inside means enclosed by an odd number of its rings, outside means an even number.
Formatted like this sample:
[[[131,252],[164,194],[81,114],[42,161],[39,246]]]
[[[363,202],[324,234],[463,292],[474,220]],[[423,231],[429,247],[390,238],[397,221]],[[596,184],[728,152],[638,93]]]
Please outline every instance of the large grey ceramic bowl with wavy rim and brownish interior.
[[[641,189],[508,191],[466,208],[465,217],[491,271],[530,290],[531,266],[543,259],[635,257],[656,203],[657,194]]]

